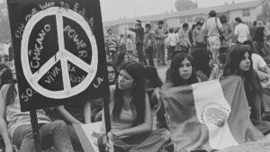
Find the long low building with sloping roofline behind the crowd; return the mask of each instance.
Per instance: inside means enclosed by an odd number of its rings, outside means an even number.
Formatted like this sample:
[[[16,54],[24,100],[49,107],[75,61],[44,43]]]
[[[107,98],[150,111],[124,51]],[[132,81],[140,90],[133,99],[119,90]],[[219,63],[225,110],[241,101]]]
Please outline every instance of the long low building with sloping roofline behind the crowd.
[[[196,19],[206,19],[208,13],[211,10],[215,10],[217,13],[225,13],[230,21],[233,21],[235,17],[241,17],[244,22],[251,24],[257,20],[257,15],[262,13],[263,5],[268,4],[269,0],[257,0],[238,4],[224,4],[220,6],[213,6],[207,8],[197,8],[192,10],[185,10],[173,13],[161,13],[148,16],[139,16],[134,18],[123,18],[117,21],[103,22],[103,29],[111,28],[115,33],[123,33],[125,28],[130,28],[134,25],[134,22],[139,19],[142,22],[150,22],[153,29],[157,28],[157,22],[163,20],[165,27],[180,27],[184,22],[193,23],[197,22]]]

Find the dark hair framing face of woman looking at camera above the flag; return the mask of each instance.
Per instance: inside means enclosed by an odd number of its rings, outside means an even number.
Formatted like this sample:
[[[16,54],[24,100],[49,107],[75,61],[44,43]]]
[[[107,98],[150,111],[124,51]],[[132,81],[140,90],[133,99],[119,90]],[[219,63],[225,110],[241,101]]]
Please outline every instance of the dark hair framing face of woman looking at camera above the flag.
[[[171,66],[169,69],[170,69],[170,79],[171,79],[172,83],[174,84],[174,86],[191,85],[191,84],[195,84],[198,82],[194,68],[192,71],[192,75],[189,77],[188,80],[184,80],[180,76],[179,67],[185,58],[187,58],[190,61],[192,67],[194,67],[193,58],[185,53],[176,54],[175,57],[172,59],[172,63],[171,63]]]

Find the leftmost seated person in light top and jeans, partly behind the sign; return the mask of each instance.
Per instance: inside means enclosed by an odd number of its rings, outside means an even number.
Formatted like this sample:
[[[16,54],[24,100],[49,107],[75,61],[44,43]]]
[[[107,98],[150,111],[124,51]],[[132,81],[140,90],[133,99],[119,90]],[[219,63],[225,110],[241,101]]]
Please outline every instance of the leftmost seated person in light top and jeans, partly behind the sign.
[[[16,80],[15,70],[12,71],[12,76]],[[9,73],[8,76],[11,76],[10,69],[5,70],[4,73]],[[6,82],[2,83],[6,84]],[[42,145],[46,145],[52,140],[57,151],[74,151],[64,121],[51,122],[42,110],[37,110],[37,117]],[[21,112],[16,81],[3,85],[0,90],[0,134],[4,139],[5,152],[13,152],[13,144],[15,148],[20,149],[20,152],[36,151],[31,130],[30,112]],[[48,137],[52,137],[52,139],[46,140]]]

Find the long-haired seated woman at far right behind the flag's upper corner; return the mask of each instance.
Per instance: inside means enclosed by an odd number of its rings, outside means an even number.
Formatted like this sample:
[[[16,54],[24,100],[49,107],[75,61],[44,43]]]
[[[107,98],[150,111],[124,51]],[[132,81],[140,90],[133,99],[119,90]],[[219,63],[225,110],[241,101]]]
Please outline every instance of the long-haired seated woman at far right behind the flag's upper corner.
[[[247,94],[247,102],[251,108],[251,121],[259,130],[266,133],[269,131],[269,124],[262,121],[263,88],[257,72],[253,69],[249,49],[249,47],[244,45],[236,45],[229,49],[223,76],[236,75],[242,77]]]

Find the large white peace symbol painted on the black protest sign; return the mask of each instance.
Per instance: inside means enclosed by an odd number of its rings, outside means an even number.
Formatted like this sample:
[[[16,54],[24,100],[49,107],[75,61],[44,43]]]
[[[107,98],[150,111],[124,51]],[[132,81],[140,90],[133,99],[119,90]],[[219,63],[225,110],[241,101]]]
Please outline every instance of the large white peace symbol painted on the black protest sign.
[[[74,5],[66,4],[66,6],[72,8]],[[77,4],[76,11],[61,8],[59,4],[53,3],[40,5],[40,9],[44,10],[37,13],[33,11],[34,14],[29,15],[23,30],[25,32],[21,42],[21,63],[25,79],[35,92],[44,97],[65,99],[83,93],[96,80],[94,77],[98,71],[99,58],[94,33],[85,17],[81,15],[84,11],[77,13],[82,9]],[[41,24],[40,21],[47,16],[52,16],[55,20]],[[66,24],[65,22],[69,20],[79,26]],[[55,34],[50,33],[54,30],[57,31]],[[56,38],[55,36],[58,41],[53,46],[58,45],[58,50],[48,51],[46,54],[47,49],[45,50],[44,45],[50,40],[48,37]],[[72,44],[66,45],[67,41],[72,41]],[[75,67],[68,65],[69,63]],[[58,90],[54,90],[54,85],[58,84]],[[92,87],[100,87],[102,84],[101,76]]]

